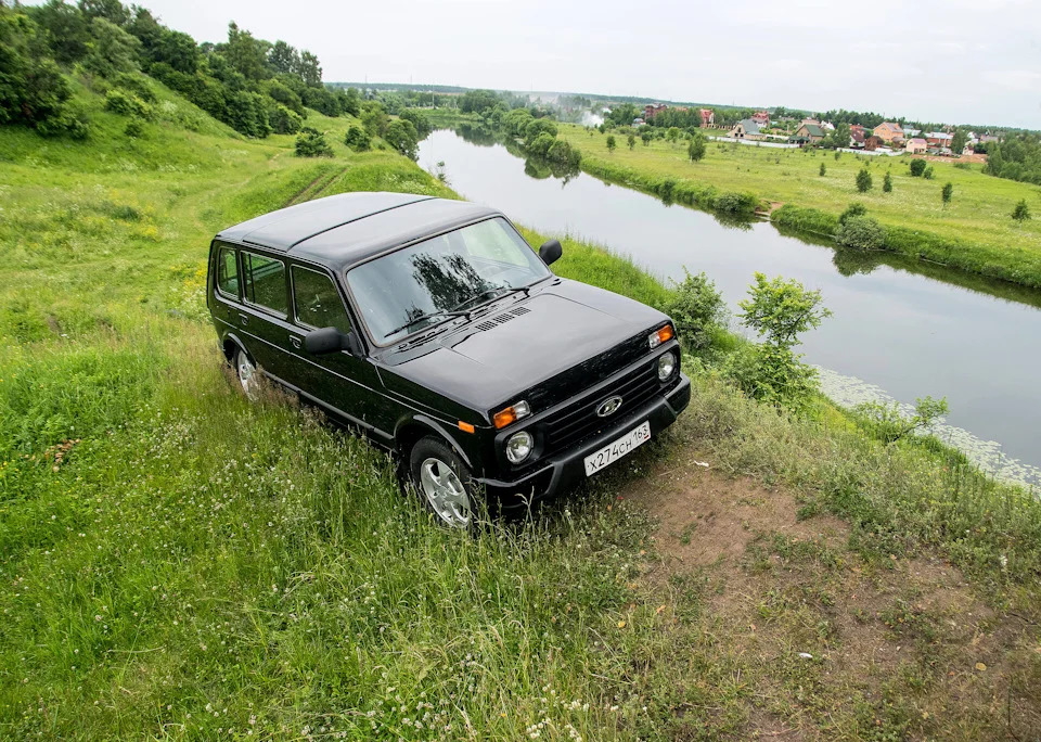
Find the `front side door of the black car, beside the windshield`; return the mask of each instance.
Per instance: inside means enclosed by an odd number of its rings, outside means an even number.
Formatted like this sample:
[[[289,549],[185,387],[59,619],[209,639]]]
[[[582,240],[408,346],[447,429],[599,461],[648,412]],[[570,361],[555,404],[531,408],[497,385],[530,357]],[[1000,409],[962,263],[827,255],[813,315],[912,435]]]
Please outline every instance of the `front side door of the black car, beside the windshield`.
[[[312,330],[336,328],[354,331],[350,315],[333,277],[317,266],[293,264],[293,315],[296,332],[292,353],[300,369],[300,389],[333,408],[347,422],[375,430],[384,436],[380,410],[384,401],[380,376],[373,362],[349,350],[312,355],[304,348],[304,336]],[[361,347],[360,333],[355,332]]]

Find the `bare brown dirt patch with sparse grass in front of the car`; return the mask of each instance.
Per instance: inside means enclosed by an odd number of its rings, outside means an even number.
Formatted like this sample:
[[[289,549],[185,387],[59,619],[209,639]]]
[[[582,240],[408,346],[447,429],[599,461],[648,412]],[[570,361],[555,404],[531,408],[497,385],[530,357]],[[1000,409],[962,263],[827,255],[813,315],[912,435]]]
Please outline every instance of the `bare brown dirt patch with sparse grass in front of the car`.
[[[793,496],[698,458],[622,492],[658,523],[642,583],[673,616],[664,661],[678,685],[715,688],[707,718],[678,708],[692,730],[1041,740],[1036,624],[998,614],[940,559],[879,552],[871,534],[800,517]]]

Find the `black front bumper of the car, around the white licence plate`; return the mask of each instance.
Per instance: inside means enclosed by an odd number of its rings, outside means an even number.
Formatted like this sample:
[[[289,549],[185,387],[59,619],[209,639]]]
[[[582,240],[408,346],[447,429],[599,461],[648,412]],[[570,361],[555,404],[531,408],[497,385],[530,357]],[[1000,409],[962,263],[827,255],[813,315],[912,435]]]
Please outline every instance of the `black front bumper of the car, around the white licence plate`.
[[[676,422],[690,401],[691,380],[681,373],[680,383],[665,395],[655,397],[640,409],[620,418],[600,435],[555,453],[543,461],[538,470],[512,482],[490,477],[477,477],[477,482],[485,487],[489,502],[497,503],[499,508],[525,508],[586,478],[586,457],[621,437],[644,420],[651,423],[651,436],[656,436]]]

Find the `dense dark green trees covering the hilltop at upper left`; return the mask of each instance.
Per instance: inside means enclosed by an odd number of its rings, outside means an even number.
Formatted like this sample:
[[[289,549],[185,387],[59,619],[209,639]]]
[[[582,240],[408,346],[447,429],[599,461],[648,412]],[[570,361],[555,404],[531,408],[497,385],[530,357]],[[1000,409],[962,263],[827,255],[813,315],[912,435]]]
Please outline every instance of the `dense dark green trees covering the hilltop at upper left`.
[[[0,0],[0,124],[89,136],[89,121],[70,101],[69,73],[104,88],[110,107],[149,118],[154,100],[141,81],[145,73],[250,137],[299,131],[307,108],[360,113],[357,90],[322,84],[314,54],[257,39],[234,23],[227,42],[198,44],[119,0],[13,8]]]

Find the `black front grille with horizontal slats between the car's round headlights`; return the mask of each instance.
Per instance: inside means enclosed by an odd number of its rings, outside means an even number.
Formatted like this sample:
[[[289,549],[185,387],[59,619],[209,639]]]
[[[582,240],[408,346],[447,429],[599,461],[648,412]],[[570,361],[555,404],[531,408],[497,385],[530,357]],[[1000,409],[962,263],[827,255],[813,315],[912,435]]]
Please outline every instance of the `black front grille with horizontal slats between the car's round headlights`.
[[[599,434],[645,405],[657,394],[659,386],[657,369],[651,360],[555,412],[543,423],[543,456],[552,456]],[[596,408],[616,395],[621,397],[621,407],[608,418],[599,417]]]

